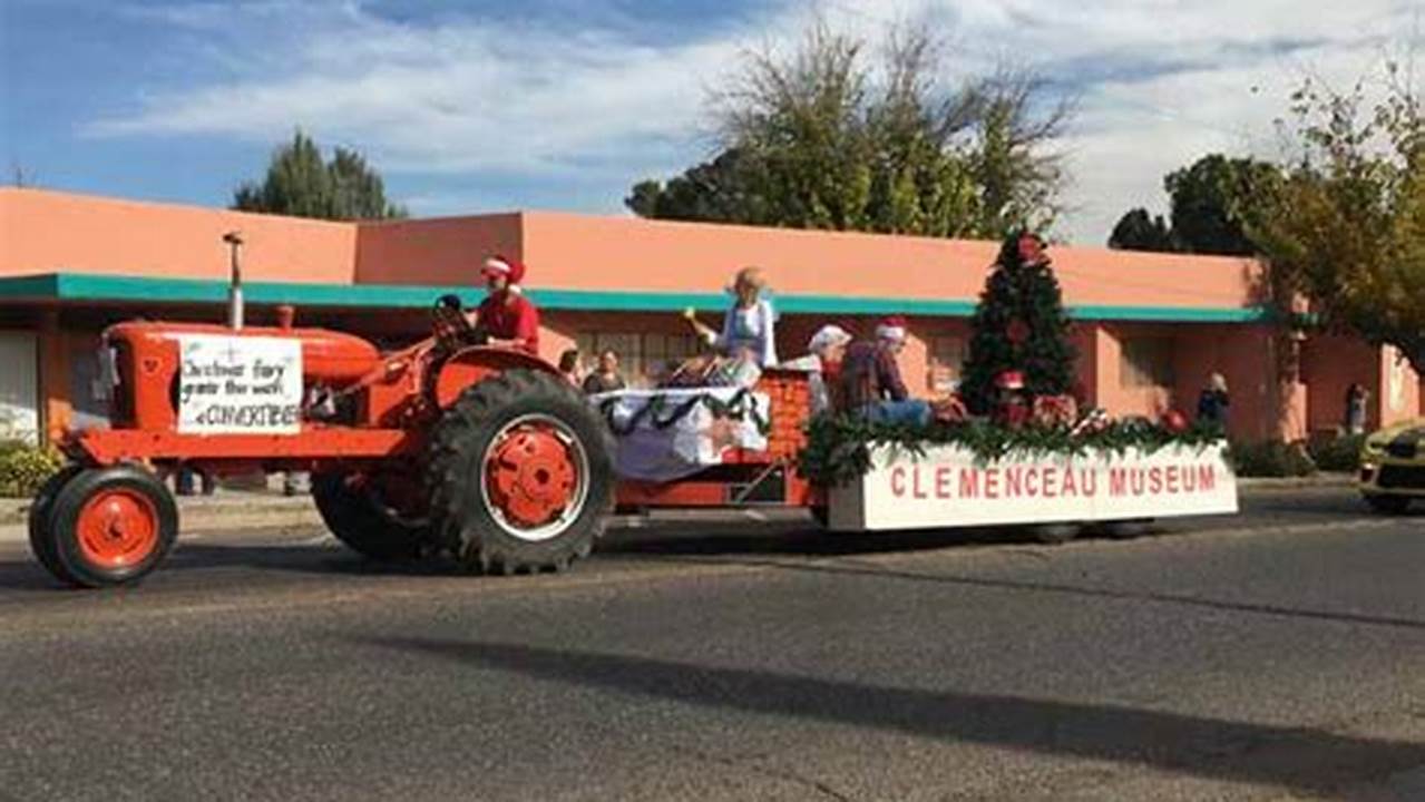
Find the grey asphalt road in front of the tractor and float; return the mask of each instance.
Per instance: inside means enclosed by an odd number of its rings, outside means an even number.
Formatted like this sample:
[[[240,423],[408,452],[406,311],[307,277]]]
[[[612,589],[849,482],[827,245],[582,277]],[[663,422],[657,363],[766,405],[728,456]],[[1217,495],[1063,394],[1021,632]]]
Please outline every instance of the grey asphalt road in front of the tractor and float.
[[[516,578],[202,533],[117,593],[0,543],[0,798],[1425,799],[1425,514],[1164,528],[677,520]]]

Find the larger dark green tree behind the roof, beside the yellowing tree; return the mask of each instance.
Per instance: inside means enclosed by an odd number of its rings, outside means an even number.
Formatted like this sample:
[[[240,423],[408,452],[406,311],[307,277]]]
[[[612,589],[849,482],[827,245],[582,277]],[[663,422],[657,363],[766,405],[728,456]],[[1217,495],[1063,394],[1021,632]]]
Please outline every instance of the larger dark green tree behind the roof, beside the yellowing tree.
[[[1173,202],[1173,238],[1190,254],[1251,255],[1244,231],[1253,197],[1280,177],[1280,168],[1253,158],[1208,154],[1163,178]]]

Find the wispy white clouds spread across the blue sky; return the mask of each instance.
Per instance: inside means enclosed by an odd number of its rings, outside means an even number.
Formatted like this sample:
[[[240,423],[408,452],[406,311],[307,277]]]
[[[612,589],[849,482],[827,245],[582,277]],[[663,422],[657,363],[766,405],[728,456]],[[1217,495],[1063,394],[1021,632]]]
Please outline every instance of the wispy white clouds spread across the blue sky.
[[[1395,0],[819,7],[839,27],[869,36],[893,20],[929,20],[950,33],[952,71],[1010,58],[1077,88],[1082,114],[1066,142],[1074,212],[1064,232],[1080,242],[1102,242],[1131,205],[1161,208],[1161,175],[1206,151],[1270,150],[1273,118],[1307,71],[1352,80],[1418,14],[1415,3]],[[675,41],[657,43],[643,31],[557,20],[398,23],[352,1],[138,13],[202,38],[222,75],[144,95],[131,114],[93,123],[94,135],[276,141],[301,124],[322,141],[361,145],[388,174],[569,179],[583,208],[613,211],[633,179],[705,155],[705,87],[742,47],[797,36],[809,11],[787,0],[708,33],[688,20]],[[607,202],[589,202],[598,195],[593,185],[606,187]],[[512,197],[502,205],[523,204]]]

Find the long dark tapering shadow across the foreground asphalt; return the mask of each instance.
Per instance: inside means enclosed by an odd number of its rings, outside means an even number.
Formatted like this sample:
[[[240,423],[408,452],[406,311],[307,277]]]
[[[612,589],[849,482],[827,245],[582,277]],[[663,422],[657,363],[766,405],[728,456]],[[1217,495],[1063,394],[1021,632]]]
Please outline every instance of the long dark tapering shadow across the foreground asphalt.
[[[437,638],[365,645],[477,670],[688,705],[851,725],[938,741],[1112,761],[1322,792],[1425,764],[1425,744],[1167,711],[1010,695],[922,691],[717,668],[646,657]]]

